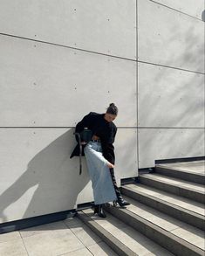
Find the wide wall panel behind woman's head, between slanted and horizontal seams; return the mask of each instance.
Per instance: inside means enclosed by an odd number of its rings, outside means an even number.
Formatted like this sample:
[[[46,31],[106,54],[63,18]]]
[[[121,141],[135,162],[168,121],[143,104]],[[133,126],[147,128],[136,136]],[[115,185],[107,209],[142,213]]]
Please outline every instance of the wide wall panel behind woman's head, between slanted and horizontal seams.
[[[111,102],[136,126],[136,62],[3,36],[0,55],[0,126],[72,127]]]

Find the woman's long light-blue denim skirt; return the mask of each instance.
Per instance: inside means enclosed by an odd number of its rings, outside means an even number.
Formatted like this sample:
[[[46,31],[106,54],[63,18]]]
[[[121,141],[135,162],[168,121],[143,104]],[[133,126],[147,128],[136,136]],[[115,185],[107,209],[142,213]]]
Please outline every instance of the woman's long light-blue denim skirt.
[[[106,158],[102,155],[100,142],[88,142],[84,151],[88,173],[92,180],[94,203],[105,204],[116,200],[112,177],[106,165]]]

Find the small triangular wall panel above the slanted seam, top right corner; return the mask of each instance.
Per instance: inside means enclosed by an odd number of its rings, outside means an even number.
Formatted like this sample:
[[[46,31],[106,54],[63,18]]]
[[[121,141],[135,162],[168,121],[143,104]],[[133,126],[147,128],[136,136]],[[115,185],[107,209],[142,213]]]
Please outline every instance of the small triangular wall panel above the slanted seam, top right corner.
[[[193,17],[202,19],[202,12],[204,10],[204,0],[154,0],[157,3],[167,5],[167,7],[182,11]]]

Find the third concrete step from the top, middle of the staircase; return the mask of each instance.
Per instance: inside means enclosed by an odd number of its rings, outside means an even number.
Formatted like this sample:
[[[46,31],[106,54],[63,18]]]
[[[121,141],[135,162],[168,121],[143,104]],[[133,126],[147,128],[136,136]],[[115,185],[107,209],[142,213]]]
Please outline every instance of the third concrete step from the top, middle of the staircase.
[[[140,183],[124,185],[121,191],[127,197],[205,230],[204,205],[184,197],[157,190]]]

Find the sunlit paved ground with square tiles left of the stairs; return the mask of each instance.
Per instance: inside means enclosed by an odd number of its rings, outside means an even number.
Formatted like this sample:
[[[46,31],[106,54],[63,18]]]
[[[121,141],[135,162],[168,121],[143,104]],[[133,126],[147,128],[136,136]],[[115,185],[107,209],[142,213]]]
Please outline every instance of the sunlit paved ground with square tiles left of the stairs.
[[[116,256],[79,218],[1,234],[0,255]]]

